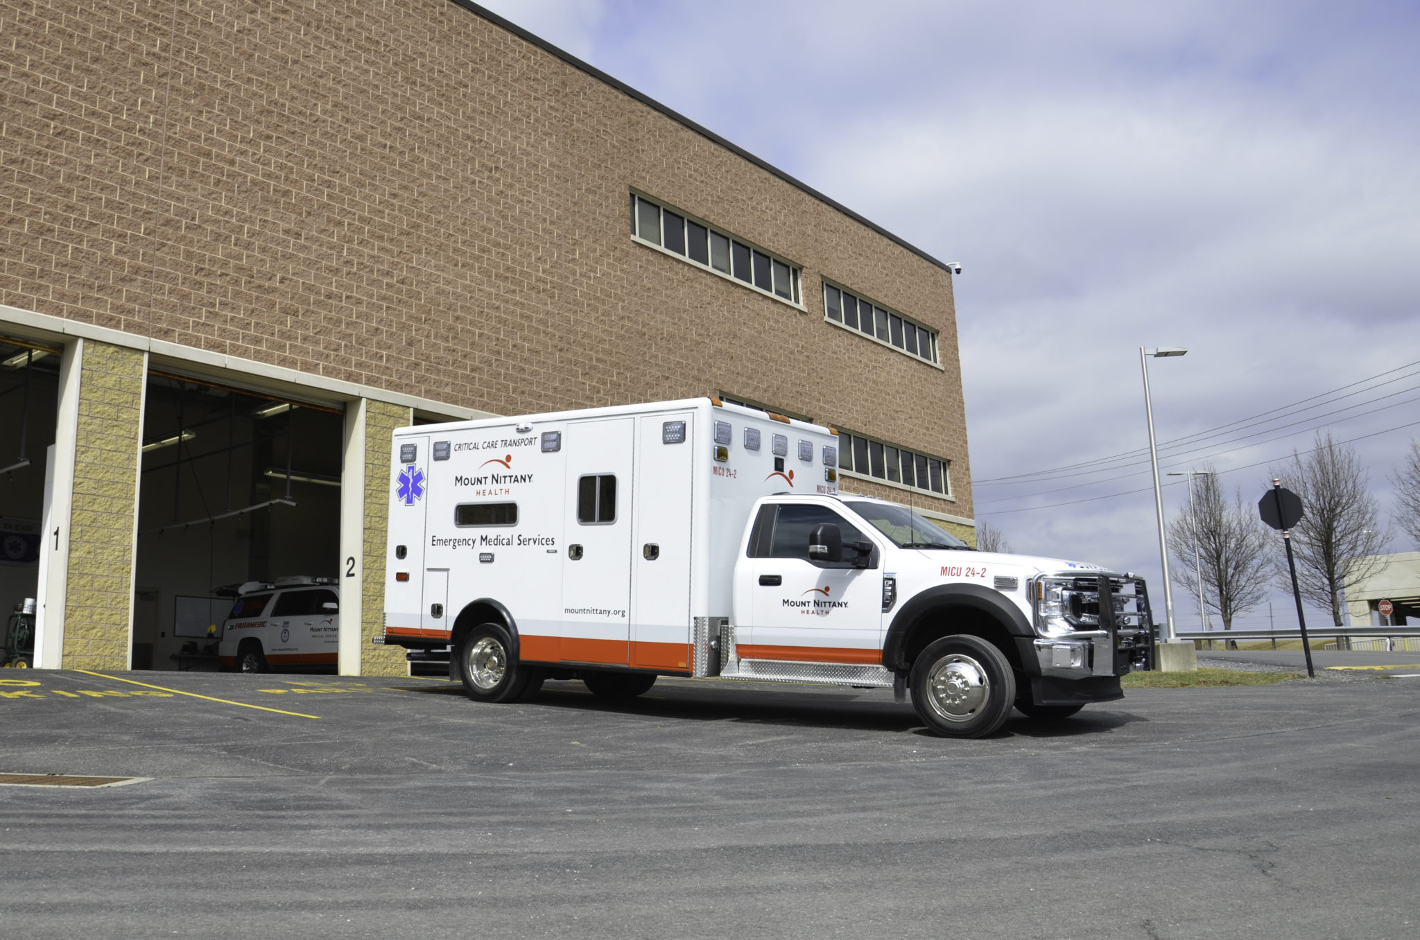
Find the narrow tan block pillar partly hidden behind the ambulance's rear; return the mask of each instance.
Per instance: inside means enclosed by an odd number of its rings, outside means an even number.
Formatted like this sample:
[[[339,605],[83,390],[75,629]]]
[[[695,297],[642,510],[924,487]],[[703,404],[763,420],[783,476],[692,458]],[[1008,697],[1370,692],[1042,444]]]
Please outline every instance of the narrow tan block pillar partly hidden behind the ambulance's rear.
[[[361,674],[408,676],[405,647],[375,646],[385,635],[385,561],[389,535],[389,467],[395,429],[413,419],[408,408],[371,400],[365,409],[365,596],[361,598]]]

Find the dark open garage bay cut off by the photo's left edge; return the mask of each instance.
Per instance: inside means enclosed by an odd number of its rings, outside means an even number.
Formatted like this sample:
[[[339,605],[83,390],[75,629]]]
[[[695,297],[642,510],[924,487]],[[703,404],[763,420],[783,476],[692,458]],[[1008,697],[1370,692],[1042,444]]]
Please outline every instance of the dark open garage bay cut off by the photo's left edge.
[[[60,351],[0,337],[0,666],[34,660],[44,470]]]

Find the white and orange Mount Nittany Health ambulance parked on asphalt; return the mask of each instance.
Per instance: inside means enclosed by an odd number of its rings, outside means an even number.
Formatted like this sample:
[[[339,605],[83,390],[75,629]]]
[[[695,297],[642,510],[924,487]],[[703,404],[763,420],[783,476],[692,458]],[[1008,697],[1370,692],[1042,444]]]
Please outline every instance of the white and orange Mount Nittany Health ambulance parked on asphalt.
[[[717,399],[403,427],[392,466],[375,642],[452,647],[481,701],[880,686],[977,737],[1122,697],[1150,642],[1140,578],[976,552],[842,494],[836,432]]]

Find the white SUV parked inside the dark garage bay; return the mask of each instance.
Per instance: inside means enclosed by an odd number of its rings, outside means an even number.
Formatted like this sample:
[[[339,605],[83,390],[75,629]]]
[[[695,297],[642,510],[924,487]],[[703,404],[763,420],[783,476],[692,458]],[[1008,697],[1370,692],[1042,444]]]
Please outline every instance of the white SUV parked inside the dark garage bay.
[[[270,666],[334,666],[341,595],[334,578],[248,581],[222,625],[222,665],[244,673]]]

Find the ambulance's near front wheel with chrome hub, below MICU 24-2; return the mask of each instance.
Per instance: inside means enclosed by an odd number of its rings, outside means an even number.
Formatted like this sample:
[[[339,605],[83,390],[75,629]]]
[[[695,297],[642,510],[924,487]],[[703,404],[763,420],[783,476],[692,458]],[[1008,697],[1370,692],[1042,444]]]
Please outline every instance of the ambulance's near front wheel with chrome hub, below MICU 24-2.
[[[1015,673],[1005,653],[980,636],[944,636],[912,665],[912,706],[941,737],[983,737],[1011,716]]]

